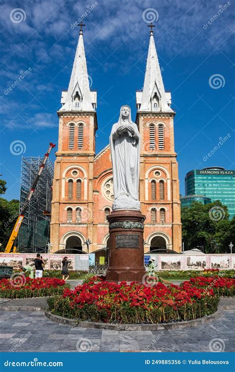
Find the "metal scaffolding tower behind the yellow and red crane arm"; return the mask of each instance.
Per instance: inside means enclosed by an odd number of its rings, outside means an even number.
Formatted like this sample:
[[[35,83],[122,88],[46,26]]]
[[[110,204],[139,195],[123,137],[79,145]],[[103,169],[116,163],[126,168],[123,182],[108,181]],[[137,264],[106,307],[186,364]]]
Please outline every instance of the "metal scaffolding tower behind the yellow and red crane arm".
[[[21,163],[20,209],[31,189],[43,157],[24,157]],[[54,167],[48,159],[26,209],[18,234],[18,252],[46,253],[50,238]]]

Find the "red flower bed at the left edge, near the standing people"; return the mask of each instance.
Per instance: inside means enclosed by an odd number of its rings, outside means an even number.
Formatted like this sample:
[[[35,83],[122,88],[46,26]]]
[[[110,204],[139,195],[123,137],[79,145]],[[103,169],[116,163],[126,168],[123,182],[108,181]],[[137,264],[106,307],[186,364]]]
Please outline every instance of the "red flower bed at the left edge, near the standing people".
[[[16,275],[17,274],[17,275]],[[57,278],[26,278],[15,273],[12,279],[0,280],[0,297],[25,298],[62,294],[66,288],[65,281]]]

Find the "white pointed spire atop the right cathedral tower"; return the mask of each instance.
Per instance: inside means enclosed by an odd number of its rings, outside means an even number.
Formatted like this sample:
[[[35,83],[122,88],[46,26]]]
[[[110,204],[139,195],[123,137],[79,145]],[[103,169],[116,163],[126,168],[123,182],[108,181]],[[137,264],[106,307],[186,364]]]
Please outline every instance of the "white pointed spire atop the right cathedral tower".
[[[150,41],[143,93],[136,93],[137,108],[140,111],[173,111],[170,107],[171,93],[166,93],[163,85],[157,50],[154,43],[153,27],[150,25]]]

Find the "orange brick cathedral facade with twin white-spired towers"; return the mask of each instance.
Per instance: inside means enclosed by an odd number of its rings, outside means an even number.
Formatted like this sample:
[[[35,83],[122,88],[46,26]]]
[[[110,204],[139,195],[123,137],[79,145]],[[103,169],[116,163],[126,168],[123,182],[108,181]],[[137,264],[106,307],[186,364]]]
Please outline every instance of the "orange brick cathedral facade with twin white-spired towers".
[[[67,91],[62,92],[59,148],[53,182],[51,244],[53,253],[101,252],[109,245],[107,215],[114,200],[110,146],[95,153],[96,92],[90,91],[80,31]],[[123,102],[125,104],[125,102]],[[164,89],[150,32],[142,92],[136,92],[136,124],[141,135],[139,200],[145,253],[181,251],[178,165],[174,148],[171,94]],[[109,133],[107,133],[107,138]],[[99,254],[99,253],[98,253]]]

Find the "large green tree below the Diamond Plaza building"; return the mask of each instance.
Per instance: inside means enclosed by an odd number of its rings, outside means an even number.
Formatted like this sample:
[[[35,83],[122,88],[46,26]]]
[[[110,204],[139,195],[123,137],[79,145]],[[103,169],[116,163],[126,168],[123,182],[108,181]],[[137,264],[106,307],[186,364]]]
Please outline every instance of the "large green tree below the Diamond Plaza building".
[[[181,211],[184,249],[204,247],[205,253],[228,252],[226,236],[231,231],[231,221],[226,205],[219,200],[209,204],[193,202]]]

